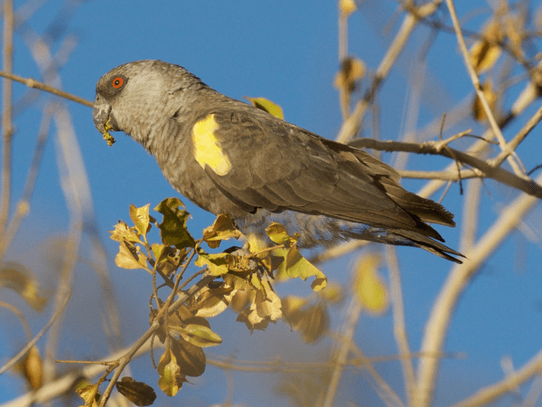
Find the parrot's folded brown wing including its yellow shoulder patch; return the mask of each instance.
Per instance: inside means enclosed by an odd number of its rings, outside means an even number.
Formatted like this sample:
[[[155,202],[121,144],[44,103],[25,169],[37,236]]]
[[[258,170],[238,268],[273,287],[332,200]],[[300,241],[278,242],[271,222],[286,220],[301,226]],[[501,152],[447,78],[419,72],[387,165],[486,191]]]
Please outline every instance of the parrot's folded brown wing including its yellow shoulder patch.
[[[250,109],[210,111],[192,130],[194,151],[200,158],[196,159],[232,201],[273,212],[293,210],[406,229],[442,240],[422,222],[423,217],[399,204],[408,207],[412,195],[433,212],[442,208],[447,217],[451,214],[439,204],[407,193],[393,168],[360,150],[245,106]],[[453,225],[451,218],[441,222]]]

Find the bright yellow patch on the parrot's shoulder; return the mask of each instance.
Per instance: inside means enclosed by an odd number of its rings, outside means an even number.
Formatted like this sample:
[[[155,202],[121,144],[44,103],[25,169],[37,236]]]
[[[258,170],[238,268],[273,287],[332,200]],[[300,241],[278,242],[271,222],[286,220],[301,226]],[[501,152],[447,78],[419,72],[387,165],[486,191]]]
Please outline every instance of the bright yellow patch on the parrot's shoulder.
[[[226,175],[231,169],[231,163],[215,136],[215,131],[218,129],[219,124],[214,118],[214,113],[202,118],[194,125],[192,128],[194,158],[201,168],[210,166],[217,175]]]

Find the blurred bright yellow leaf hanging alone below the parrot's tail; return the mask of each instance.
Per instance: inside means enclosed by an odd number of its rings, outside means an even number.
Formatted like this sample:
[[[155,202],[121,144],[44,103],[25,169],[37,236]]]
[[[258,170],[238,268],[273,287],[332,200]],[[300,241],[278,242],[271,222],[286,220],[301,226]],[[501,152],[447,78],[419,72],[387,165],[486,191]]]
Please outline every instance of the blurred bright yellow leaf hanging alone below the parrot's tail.
[[[380,258],[369,254],[356,265],[354,289],[361,304],[376,314],[382,314],[388,308],[388,289],[378,277]]]

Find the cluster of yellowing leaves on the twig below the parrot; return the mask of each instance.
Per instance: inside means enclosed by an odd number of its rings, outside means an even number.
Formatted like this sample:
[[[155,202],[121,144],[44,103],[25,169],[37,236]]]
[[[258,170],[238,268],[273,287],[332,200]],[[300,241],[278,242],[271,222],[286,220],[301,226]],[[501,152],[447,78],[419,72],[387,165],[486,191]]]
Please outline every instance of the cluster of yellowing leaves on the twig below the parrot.
[[[169,396],[174,396],[183,383],[189,382],[187,377],[201,376],[205,372],[203,348],[222,342],[211,330],[208,318],[218,316],[231,306],[238,312],[237,320],[248,329],[265,329],[270,322],[276,323],[284,316],[283,308],[292,309],[291,300],[286,300],[285,306],[276,295],[273,288],[276,277],[307,279],[314,276],[314,291],[327,284],[325,275],[298,251],[299,235],[288,235],[284,226],[278,223],[272,223],[266,229],[270,241],[275,243],[271,247],[256,236],[249,236],[245,247],[232,246],[217,253],[204,250],[203,243],[210,249],[217,249],[222,241],[241,237],[229,216],[219,215],[203,230],[201,239],[194,239],[186,226],[190,214],[179,199],[165,199],[154,208],[162,214],[162,222],[150,214],[149,207],[149,204],[139,208],[131,205],[129,215],[133,226],[119,221],[110,237],[119,242],[115,258],[118,267],[145,270],[152,276],[151,327],[138,344],[143,345],[148,338],[153,344],[155,338],[164,344],[158,364],[154,364],[154,356],[153,364],[159,375],[158,386]],[[150,241],[149,232],[153,228],[160,232],[161,242]],[[191,264],[199,270],[186,278]],[[197,287],[193,282],[198,276],[208,282]],[[158,283],[158,279],[162,282]],[[294,321],[291,324],[300,330],[305,341],[313,342],[325,333],[328,317],[323,301],[307,304],[305,301],[303,311],[296,309],[290,313]],[[123,366],[122,361],[109,364],[107,373],[97,383],[79,390],[85,405],[96,402],[103,405],[103,397],[108,393],[106,391],[100,397],[99,385],[106,381],[108,374]],[[119,372],[116,374],[118,376]],[[126,377],[123,381],[111,379],[111,382],[116,382],[117,391],[136,405],[154,402],[154,390],[146,383]]]

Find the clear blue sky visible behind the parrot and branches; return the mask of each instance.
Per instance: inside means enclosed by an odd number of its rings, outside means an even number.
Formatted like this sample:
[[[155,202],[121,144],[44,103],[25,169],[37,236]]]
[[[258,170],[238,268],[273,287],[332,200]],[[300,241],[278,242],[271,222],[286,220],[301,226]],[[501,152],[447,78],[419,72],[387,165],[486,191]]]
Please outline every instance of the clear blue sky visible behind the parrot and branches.
[[[483,2],[476,3],[487,7]],[[44,5],[28,22],[28,26],[37,33],[44,33],[58,13],[60,4],[50,2]],[[16,8],[21,5],[23,2],[15,2]],[[383,33],[395,7],[395,2],[369,1],[361,6],[362,13],[353,14],[350,18],[350,54],[364,60],[371,71],[378,67],[388,47],[390,34],[397,31],[396,24],[390,26],[390,31]],[[274,100],[282,106],[286,120],[323,137],[335,137],[341,127],[338,93],[332,86],[339,66],[337,10],[334,1],[97,0],[83,2],[74,10],[72,18],[66,19],[67,31],[61,33],[61,38],[65,38],[66,34],[74,35],[78,42],[61,69],[63,90],[93,100],[96,81],[106,71],[125,62],[160,59],[182,65],[212,88],[232,98],[250,96]],[[458,9],[460,15],[465,12],[466,9]],[[470,27],[479,28],[487,12],[486,9],[484,14],[482,8],[481,14],[474,14],[472,20],[469,20]],[[22,41],[22,32],[15,34],[14,73],[42,80],[36,63]],[[430,33],[427,29],[416,31],[378,98],[382,138],[397,139],[404,131],[411,91],[408,77],[417,69],[413,62],[416,60],[414,54],[428,35]],[[58,50],[59,46],[53,45],[52,51]],[[453,35],[438,36],[431,48],[425,80],[430,86],[425,89],[423,96],[431,101],[421,107],[417,120],[420,128],[472,94],[472,85]],[[15,98],[21,97],[26,91],[23,85],[14,84]],[[47,100],[50,100],[48,96],[42,96],[30,109],[15,118],[14,199],[22,192],[41,110]],[[128,220],[129,204],[142,206],[151,203],[151,207],[154,207],[165,197],[177,194],[165,181],[153,157],[147,155],[142,147],[120,133],[114,134],[117,144],[107,147],[94,128],[91,109],[73,102],[67,106],[89,177],[98,231],[110,256],[110,272],[121,304],[119,312],[126,331],[125,340],[129,343],[141,335],[146,327],[146,290],[149,288],[149,278],[143,273],[115,267],[113,258],[117,243],[108,239],[107,231],[112,229],[118,219]],[[526,117],[533,113],[533,109],[529,110]],[[459,131],[466,128],[473,128],[475,134],[482,132],[481,126],[472,120],[466,120],[454,129]],[[511,137],[518,129],[515,126],[507,129],[505,137]],[[519,155],[528,168],[540,164],[538,152],[542,146],[537,136],[539,130],[536,128],[534,132],[528,144],[526,142],[526,146],[519,149]],[[41,243],[44,239],[51,241],[61,236],[69,225],[56,159],[58,143],[54,137],[54,132],[51,132],[33,195],[32,213],[23,223],[7,256],[8,260],[26,262],[38,275],[44,273],[48,278],[54,278],[54,275],[40,270],[39,264],[40,255],[51,249],[44,249]],[[455,147],[461,148],[461,142]],[[382,157],[388,162],[394,158],[389,154]],[[411,156],[407,168],[440,170],[447,164],[448,160],[440,157]],[[404,182],[412,191],[417,191],[424,184],[419,180]],[[434,198],[438,199],[439,196],[437,194]],[[494,222],[502,206],[509,204],[515,196],[517,193],[506,186],[491,180],[485,183],[481,197],[484,210],[479,235]],[[202,212],[186,199],[183,201],[192,213],[190,226],[193,231],[200,231],[212,222],[213,216],[209,213]],[[443,204],[457,214],[456,220],[461,224],[464,203],[456,184],[452,186]],[[525,220],[538,236],[539,216],[538,205],[535,212]],[[459,229],[437,228],[451,247],[457,247]],[[451,264],[416,249],[403,248],[397,252],[405,290],[406,325],[411,346],[417,350],[425,321]],[[81,258],[88,259],[88,256],[83,249]],[[350,255],[332,260],[323,264],[322,270],[330,279],[348,284],[353,258]],[[500,367],[502,356],[511,356],[514,365],[519,367],[537,353],[542,343],[541,261],[540,243],[529,242],[520,233],[516,233],[514,238],[505,241],[465,291],[453,318],[445,349],[463,353],[466,357],[444,361],[436,405],[457,402],[474,393],[480,386],[500,380],[503,377]],[[51,289],[50,281],[44,284]],[[105,349],[105,342],[99,328],[100,304],[96,299],[98,283],[88,265],[79,265],[76,284],[78,288],[71,298],[74,305],[65,323],[67,327],[73,327],[72,335],[77,341],[62,339],[62,350],[66,353],[62,357],[99,358],[104,356],[101,351]],[[300,290],[300,295],[310,294],[308,284],[295,284],[293,288],[280,289],[282,292]],[[140,297],[139,292],[143,293]],[[340,315],[341,309],[336,309],[333,327],[337,327],[341,321]],[[0,318],[2,325],[10,322],[18,327],[14,319],[4,316]],[[42,327],[42,318],[39,315],[31,318],[36,331]],[[87,322],[81,324],[81,320]],[[224,345],[218,350],[210,349],[210,353],[236,355],[242,360],[266,360],[282,350],[288,357],[298,356],[306,361],[318,359],[319,349],[330,345],[330,342],[325,342],[320,346],[304,347],[285,324],[270,326],[266,332],[256,332],[250,336],[245,327],[234,320],[234,314],[227,313],[226,317],[212,323],[213,328],[216,326],[216,331],[224,338]],[[379,318],[362,317],[356,340],[367,355],[397,353],[391,323],[390,313]],[[14,337],[15,334],[10,336],[0,333],[0,340],[6,344],[4,350],[0,348],[2,360],[14,354]],[[81,347],[84,350],[81,351]],[[147,372],[150,366],[148,358],[137,362],[135,366],[146,369],[145,374],[139,374],[135,367],[132,371],[135,378],[154,385],[154,372]],[[380,373],[397,386],[397,392],[403,394],[398,369],[399,365],[395,363],[378,365]],[[276,405],[273,402],[266,403],[273,397],[269,390],[272,390],[273,385],[269,383],[274,383],[274,377],[268,383],[258,382],[267,377],[264,375],[236,374],[234,377],[237,381],[236,402]],[[169,400],[162,396],[162,402],[171,402],[171,405],[179,402],[209,405],[224,400],[226,378],[217,369],[209,367],[208,372],[193,383],[185,385],[176,399]],[[256,383],[252,385],[258,386],[258,393],[251,392],[247,383]],[[349,374],[342,384],[339,400],[356,401],[359,404],[367,404],[360,402],[366,400],[375,402],[375,393],[367,388],[367,383],[360,375]],[[0,376],[0,402],[10,400],[22,392],[23,385],[14,376]],[[507,402],[510,400],[505,399],[497,405],[508,405]],[[340,402],[337,405],[341,405]],[[378,402],[372,405],[378,405]]]

